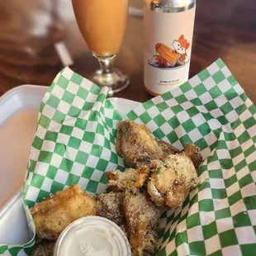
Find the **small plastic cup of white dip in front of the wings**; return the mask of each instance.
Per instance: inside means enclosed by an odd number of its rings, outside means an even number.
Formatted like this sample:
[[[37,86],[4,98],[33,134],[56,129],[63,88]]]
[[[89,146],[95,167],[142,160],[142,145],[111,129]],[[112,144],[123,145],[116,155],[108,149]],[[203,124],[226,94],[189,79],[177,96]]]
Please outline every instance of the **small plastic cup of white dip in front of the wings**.
[[[68,225],[55,244],[55,256],[131,256],[130,244],[111,220],[88,216]]]

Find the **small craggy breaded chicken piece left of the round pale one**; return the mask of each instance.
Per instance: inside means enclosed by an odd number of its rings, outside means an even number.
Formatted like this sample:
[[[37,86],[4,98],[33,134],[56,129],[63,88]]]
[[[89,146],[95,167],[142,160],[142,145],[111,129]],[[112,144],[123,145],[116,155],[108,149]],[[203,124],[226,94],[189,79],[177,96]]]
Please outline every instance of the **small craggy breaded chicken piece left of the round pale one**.
[[[136,189],[145,185],[149,178],[149,173],[148,165],[141,165],[136,169],[127,168],[123,173],[119,170],[107,171],[107,187],[111,187],[114,192],[125,191],[126,188]]]

